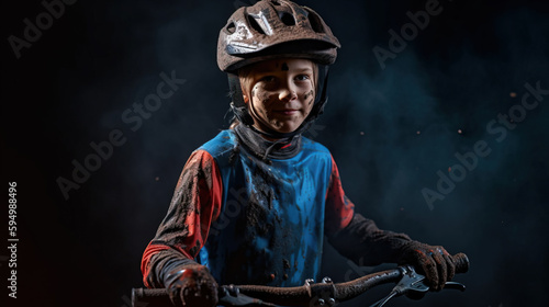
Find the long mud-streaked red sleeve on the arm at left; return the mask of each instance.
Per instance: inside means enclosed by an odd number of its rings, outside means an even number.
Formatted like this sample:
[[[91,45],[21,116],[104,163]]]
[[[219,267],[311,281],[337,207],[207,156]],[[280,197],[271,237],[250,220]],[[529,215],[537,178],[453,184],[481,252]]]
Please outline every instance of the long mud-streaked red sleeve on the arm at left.
[[[181,172],[168,214],[158,227],[142,259],[146,286],[153,257],[163,250],[175,250],[181,257],[194,259],[205,243],[212,221],[217,219],[222,205],[223,184],[220,169],[205,150],[194,151]]]

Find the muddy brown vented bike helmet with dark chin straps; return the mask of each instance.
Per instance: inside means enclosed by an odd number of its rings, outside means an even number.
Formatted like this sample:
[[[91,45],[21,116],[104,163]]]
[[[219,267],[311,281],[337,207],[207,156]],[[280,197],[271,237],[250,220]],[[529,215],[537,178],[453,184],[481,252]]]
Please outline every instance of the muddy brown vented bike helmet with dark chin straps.
[[[337,57],[339,41],[312,9],[287,0],[261,0],[236,10],[220,31],[217,66],[228,73],[231,107],[240,123],[255,129],[243,101],[239,68],[272,58],[306,58],[318,65],[318,92],[314,107],[300,128],[291,134],[262,133],[271,137],[301,134],[323,112],[327,101],[328,65]]]

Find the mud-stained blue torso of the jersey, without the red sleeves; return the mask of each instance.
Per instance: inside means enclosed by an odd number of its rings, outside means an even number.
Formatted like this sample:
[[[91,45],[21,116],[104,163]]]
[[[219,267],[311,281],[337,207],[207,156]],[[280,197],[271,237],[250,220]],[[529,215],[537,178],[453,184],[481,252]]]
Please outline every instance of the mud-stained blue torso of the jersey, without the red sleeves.
[[[234,157],[236,141],[226,130],[200,148],[220,168],[223,206],[199,262],[222,283],[295,286],[316,278],[329,151],[303,138],[298,155],[267,163],[246,148]]]

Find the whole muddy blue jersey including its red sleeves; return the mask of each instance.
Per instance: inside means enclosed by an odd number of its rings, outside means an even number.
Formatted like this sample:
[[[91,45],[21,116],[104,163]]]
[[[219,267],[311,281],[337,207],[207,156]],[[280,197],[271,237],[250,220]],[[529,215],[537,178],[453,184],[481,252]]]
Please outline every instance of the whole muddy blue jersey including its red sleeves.
[[[220,284],[318,280],[324,235],[354,215],[332,155],[301,136],[265,156],[247,143],[224,130],[189,158],[143,258],[147,286],[161,286],[152,272],[178,257],[206,265]]]

